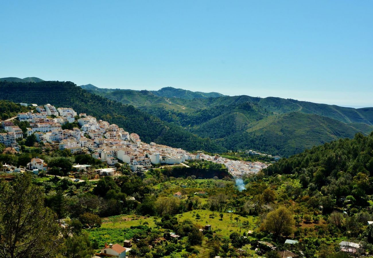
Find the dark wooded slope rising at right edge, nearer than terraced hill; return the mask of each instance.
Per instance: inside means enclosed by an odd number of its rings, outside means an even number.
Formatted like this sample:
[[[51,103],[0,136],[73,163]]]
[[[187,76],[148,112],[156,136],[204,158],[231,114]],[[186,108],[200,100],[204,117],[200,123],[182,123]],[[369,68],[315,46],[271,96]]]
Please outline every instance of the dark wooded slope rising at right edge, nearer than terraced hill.
[[[319,189],[337,202],[352,195],[364,204],[373,193],[373,133],[339,139],[287,159],[264,170],[266,174],[295,174],[303,187]],[[352,198],[351,198],[352,200]]]

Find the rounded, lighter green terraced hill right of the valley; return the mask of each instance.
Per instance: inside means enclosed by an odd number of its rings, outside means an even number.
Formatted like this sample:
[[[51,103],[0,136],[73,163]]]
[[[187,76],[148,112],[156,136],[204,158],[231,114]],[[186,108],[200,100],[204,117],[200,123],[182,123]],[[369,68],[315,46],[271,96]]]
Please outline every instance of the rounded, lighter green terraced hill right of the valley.
[[[286,157],[338,138],[352,138],[357,132],[361,131],[329,117],[292,112],[251,123],[245,132],[225,138],[223,145]]]

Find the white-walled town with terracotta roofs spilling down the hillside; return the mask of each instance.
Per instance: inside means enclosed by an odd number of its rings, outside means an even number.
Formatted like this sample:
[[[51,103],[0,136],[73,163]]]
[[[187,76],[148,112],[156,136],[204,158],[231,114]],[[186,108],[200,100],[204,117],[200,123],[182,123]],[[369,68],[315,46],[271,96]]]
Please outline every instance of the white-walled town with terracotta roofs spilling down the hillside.
[[[22,103],[25,104],[25,103]],[[133,172],[145,172],[152,165],[183,164],[186,160],[207,160],[223,164],[233,177],[242,178],[245,174],[255,174],[268,166],[259,161],[248,162],[230,160],[219,155],[208,155],[203,152],[190,153],[181,148],[172,148],[154,142],[142,142],[136,133],[128,133],[123,128],[103,120],[97,120],[89,114],[79,115],[72,108],[56,108],[51,104],[37,106],[28,113],[19,113],[19,121],[29,122],[26,136],[35,134],[38,142],[49,143],[59,150],[68,150],[72,154],[79,152],[90,154],[92,157],[106,162],[107,169],[97,173],[112,176],[115,174],[115,164],[127,163]],[[67,123],[75,123],[77,127],[62,129]],[[23,138],[21,128],[11,120],[3,121],[2,127],[6,133],[0,134],[0,143],[8,151],[19,151],[16,141]],[[30,170],[47,170],[47,164],[39,158],[34,158],[28,164]],[[77,170],[86,170],[87,165],[78,164]]]

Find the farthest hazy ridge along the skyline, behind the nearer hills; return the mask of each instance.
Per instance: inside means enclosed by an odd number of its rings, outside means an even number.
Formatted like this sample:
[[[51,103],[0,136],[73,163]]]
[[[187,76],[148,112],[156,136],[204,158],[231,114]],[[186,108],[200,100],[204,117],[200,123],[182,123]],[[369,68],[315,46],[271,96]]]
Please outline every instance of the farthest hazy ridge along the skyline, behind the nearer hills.
[[[93,85],[91,85],[93,86]],[[164,107],[169,110],[176,110],[182,112],[190,112],[200,109],[206,109],[214,106],[230,106],[239,103],[253,103],[266,109],[274,114],[285,114],[294,111],[300,111],[306,114],[317,114],[319,116],[326,116],[332,119],[338,120],[344,123],[366,123],[367,125],[373,125],[373,107],[366,108],[351,108],[351,107],[339,107],[336,105],[319,104],[307,101],[297,101],[292,99],[284,99],[278,97],[250,97],[247,95],[239,96],[222,96],[222,97],[210,97],[210,98],[193,98],[184,100],[181,98],[156,98],[154,91],[134,91],[130,89],[101,89],[94,86],[94,88],[82,85],[83,88],[87,88],[92,93],[102,95],[109,99],[115,99],[124,104],[133,104],[136,107],[154,107],[149,103],[160,103],[156,107]],[[119,96],[120,97],[119,97]],[[140,101],[132,101],[134,95],[141,95]],[[175,104],[179,107],[184,107],[182,110],[175,108]]]

